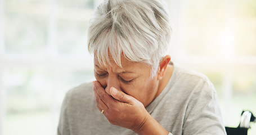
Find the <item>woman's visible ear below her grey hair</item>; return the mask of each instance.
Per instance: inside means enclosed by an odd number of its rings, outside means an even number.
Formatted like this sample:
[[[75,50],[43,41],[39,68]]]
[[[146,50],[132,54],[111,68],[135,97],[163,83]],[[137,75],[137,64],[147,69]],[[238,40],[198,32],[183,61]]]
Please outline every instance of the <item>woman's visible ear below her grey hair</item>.
[[[158,66],[158,80],[160,80],[164,77],[169,62],[170,62],[170,56],[167,55],[159,63],[159,66]]]

